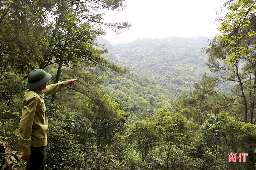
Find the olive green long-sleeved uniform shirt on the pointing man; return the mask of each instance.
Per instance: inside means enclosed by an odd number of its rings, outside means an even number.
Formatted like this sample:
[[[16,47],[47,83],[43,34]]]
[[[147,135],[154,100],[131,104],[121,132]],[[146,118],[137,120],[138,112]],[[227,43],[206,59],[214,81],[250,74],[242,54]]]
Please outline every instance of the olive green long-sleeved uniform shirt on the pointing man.
[[[30,146],[46,146],[48,119],[44,96],[69,85],[68,81],[47,85],[45,90],[26,90],[22,101],[22,118],[19,124],[20,146],[22,155],[30,154]]]

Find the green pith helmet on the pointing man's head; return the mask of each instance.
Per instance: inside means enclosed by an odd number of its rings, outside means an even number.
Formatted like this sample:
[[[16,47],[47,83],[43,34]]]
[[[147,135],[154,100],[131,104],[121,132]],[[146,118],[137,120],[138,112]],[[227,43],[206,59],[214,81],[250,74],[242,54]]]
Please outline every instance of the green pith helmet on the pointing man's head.
[[[36,89],[42,85],[44,85],[47,81],[52,78],[52,75],[45,72],[42,69],[35,69],[31,71],[27,76],[27,89]]]

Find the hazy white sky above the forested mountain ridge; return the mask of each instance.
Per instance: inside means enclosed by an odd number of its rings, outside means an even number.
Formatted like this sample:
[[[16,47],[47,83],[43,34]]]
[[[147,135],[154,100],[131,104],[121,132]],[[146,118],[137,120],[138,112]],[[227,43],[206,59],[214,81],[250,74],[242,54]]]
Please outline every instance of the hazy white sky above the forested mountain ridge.
[[[107,27],[103,38],[115,43],[128,43],[137,38],[211,37],[217,34],[214,25],[220,0],[126,0],[123,11],[105,11],[108,22],[127,21],[129,29],[116,35]]]

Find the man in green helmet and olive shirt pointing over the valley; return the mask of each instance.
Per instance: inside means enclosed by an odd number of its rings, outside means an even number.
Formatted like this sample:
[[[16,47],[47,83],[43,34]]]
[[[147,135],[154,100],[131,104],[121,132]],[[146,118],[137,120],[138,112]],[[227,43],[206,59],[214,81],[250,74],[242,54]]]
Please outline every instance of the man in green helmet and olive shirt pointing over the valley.
[[[45,168],[48,119],[44,97],[76,82],[76,79],[71,79],[47,85],[51,77],[42,69],[35,69],[28,75],[19,124],[21,158],[27,162],[27,170]]]

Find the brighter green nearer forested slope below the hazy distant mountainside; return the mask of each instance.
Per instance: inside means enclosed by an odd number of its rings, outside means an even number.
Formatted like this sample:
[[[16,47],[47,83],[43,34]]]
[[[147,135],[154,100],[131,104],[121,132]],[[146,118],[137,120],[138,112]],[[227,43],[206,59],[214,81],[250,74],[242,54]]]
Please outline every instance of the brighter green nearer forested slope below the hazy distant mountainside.
[[[110,96],[118,98],[124,107],[130,108],[130,121],[142,120],[156,112],[157,108],[170,108],[171,95],[160,85],[142,86],[142,77],[131,72],[124,77],[106,80],[105,86]],[[166,97],[165,97],[166,96]]]

